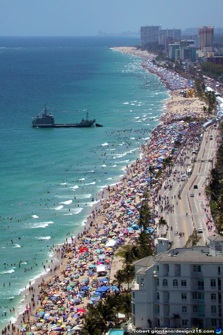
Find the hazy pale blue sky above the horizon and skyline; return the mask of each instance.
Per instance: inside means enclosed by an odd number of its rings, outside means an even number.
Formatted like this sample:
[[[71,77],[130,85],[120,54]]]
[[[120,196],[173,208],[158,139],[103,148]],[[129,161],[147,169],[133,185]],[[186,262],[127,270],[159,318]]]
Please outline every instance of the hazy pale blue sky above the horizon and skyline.
[[[223,26],[223,0],[0,0],[0,36],[80,36]]]

